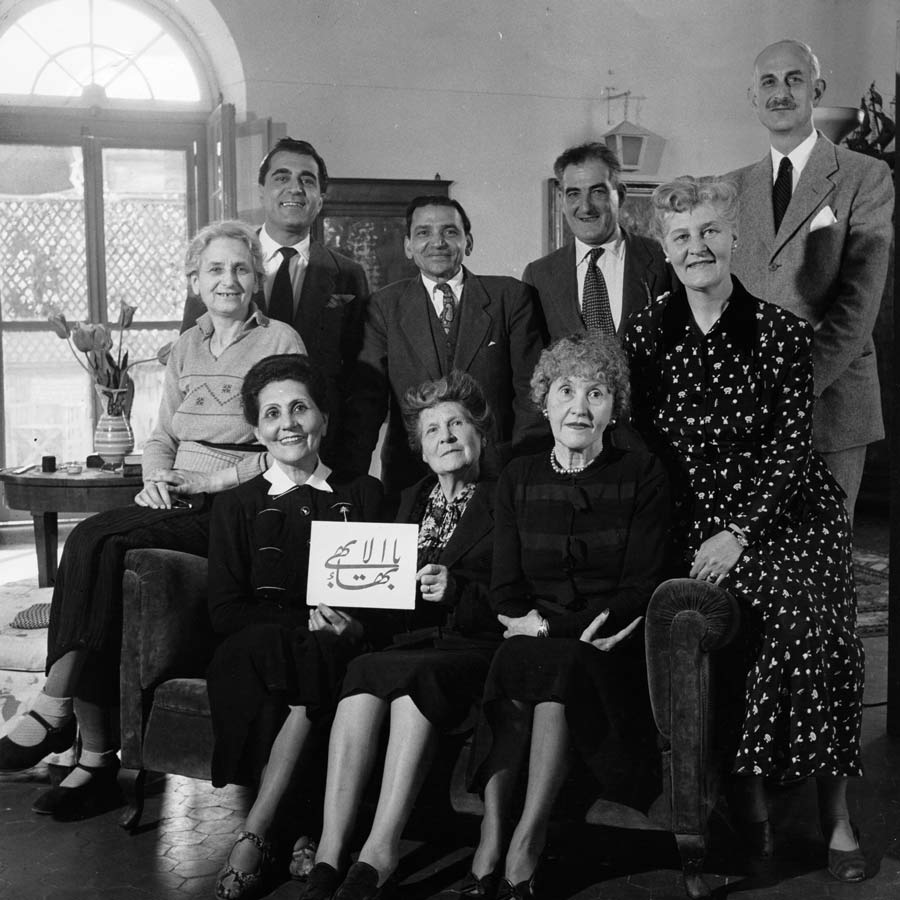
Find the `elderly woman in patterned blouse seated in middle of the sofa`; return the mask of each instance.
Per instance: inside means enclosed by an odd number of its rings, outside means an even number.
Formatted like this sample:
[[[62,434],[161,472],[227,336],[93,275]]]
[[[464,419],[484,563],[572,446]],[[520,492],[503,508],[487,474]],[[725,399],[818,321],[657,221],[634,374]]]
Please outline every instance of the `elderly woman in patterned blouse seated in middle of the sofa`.
[[[404,492],[397,516],[420,523],[410,624],[425,632],[415,642],[415,633],[401,633],[396,646],[357,657],[348,668],[329,744],[325,825],[303,900],[381,894],[435,745],[440,735],[471,727],[500,641],[487,603],[495,483],[481,464],[490,408],[477,382],[454,371],[408,391],[403,411],[410,445],[432,472]],[[348,841],[378,752],[374,738],[386,721],[375,819],[347,871]]]

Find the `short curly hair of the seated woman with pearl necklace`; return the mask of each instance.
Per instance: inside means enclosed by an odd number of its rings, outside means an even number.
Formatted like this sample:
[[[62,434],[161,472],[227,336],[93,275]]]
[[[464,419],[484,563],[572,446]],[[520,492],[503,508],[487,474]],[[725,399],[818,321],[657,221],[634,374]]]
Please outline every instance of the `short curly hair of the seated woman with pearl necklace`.
[[[531,376],[531,399],[547,406],[550,385],[557,378],[578,375],[596,379],[613,395],[613,417],[625,419],[631,411],[628,359],[618,340],[606,335],[573,334],[559,338],[541,353]]]

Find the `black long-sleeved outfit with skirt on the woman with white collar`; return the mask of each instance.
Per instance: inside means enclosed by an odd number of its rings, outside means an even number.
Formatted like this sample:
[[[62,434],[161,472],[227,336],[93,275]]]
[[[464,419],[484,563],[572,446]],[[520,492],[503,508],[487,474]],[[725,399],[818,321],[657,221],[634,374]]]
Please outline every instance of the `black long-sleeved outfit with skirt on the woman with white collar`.
[[[216,787],[252,780],[288,706],[310,720],[334,711],[347,663],[365,649],[348,636],[309,631],[306,580],[314,520],[377,521],[381,485],[364,476],[270,496],[262,476],[216,497],[209,545],[209,613],[224,636],[207,674]],[[386,616],[354,610],[366,640],[389,634]]]

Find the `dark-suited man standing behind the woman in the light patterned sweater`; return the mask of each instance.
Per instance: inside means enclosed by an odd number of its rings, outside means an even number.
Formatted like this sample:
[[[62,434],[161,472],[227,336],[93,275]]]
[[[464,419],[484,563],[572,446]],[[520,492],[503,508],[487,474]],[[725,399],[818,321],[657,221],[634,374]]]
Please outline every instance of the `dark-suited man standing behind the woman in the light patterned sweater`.
[[[293,325],[325,375],[331,416],[322,456],[332,466],[349,378],[362,344],[369,288],[362,266],[310,240],[328,190],[325,160],[307,141],[282,138],[259,166],[265,224],[259,231],[266,279],[253,299],[270,317]],[[181,330],[205,312],[189,297]]]

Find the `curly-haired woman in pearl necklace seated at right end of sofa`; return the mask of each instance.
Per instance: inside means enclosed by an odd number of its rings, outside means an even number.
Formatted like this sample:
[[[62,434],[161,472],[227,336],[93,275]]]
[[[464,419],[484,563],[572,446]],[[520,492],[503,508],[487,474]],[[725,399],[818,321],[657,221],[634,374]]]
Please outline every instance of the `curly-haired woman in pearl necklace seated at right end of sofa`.
[[[497,488],[491,605],[506,640],[472,756],[485,812],[466,896],[558,896],[536,887],[535,871],[571,749],[608,796],[646,808],[656,793],[640,777],[658,761],[638,625],[666,557],[666,475],[646,450],[612,439],[629,401],[615,339],[558,340],[531,389],[554,446],[513,460]]]

